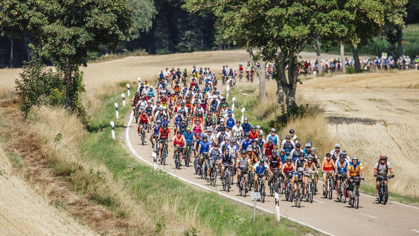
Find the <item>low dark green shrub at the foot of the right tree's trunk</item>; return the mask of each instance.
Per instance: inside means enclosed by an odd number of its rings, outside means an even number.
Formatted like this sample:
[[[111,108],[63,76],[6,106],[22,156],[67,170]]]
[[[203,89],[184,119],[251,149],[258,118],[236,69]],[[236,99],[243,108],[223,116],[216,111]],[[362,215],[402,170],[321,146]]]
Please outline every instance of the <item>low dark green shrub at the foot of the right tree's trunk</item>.
[[[282,105],[281,115],[276,115],[274,119],[267,121],[265,126],[282,130],[282,128],[287,125],[288,121],[303,117],[307,113],[307,110],[308,104],[297,105],[296,103],[292,103],[292,105],[287,106],[287,109],[285,109],[285,106]]]

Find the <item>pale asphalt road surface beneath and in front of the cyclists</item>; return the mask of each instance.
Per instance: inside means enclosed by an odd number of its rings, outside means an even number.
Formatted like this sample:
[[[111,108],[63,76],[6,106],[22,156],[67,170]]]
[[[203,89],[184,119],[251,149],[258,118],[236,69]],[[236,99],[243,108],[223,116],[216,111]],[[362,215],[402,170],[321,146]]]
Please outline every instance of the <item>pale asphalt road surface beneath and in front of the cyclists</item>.
[[[217,87],[220,87],[219,90],[224,89],[221,86]],[[237,97],[237,100],[239,99]],[[140,136],[137,134],[137,124],[132,118],[127,123],[126,142],[138,158],[145,160],[148,164],[153,163],[153,149],[150,141],[144,146],[141,145]],[[222,190],[219,177],[217,186],[210,186],[195,174],[192,163],[189,167],[181,166],[180,169],[175,169],[172,155],[173,149],[169,145],[166,165],[158,164],[158,168],[199,187],[222,192],[232,200],[253,205],[250,196],[246,196],[246,198],[240,196],[238,187],[235,185],[236,177],[230,192],[225,192]],[[300,208],[295,207],[293,202],[285,201],[285,195],[279,195],[280,214],[331,235],[419,235],[419,208],[391,201],[387,205],[381,205],[378,204],[375,197],[363,194],[360,195],[359,208],[350,208],[348,203],[339,203],[336,200],[336,191],[333,192],[334,198],[331,200],[323,198],[322,184],[322,182],[318,182],[319,192],[314,196],[313,203],[302,201]],[[269,189],[267,192],[269,194]],[[250,192],[248,194],[250,195]],[[264,203],[257,202],[256,205],[268,212],[275,211],[275,199],[270,195],[266,196]]]

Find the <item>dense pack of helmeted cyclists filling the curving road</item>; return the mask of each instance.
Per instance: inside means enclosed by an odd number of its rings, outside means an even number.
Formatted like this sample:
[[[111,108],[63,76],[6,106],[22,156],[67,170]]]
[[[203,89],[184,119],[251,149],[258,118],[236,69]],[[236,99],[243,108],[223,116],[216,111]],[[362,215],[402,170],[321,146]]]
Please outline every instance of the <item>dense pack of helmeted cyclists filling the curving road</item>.
[[[246,73],[251,73],[253,68],[248,67],[243,68],[240,63],[239,73],[244,69]],[[233,71],[233,76],[230,76],[230,71]],[[224,72],[227,80],[235,79],[235,70],[228,65],[221,69],[223,77]],[[155,87],[147,80],[141,82],[131,100],[133,110],[139,114],[138,134],[145,135],[147,142],[147,134],[150,133],[148,140],[156,153],[157,162],[164,164],[162,160],[171,154],[173,159],[180,156],[179,166],[183,162],[186,166],[193,163],[195,173],[214,185],[217,176],[224,186],[225,182],[233,184],[236,175],[236,185],[243,190],[244,196],[252,187],[266,195],[265,189],[272,190],[275,185],[275,192],[285,190],[291,199],[308,200],[311,192],[310,189],[308,192],[308,186],[314,183],[311,194],[315,195],[318,178],[321,178],[325,198],[327,195],[331,198],[333,189],[338,200],[343,192],[352,204],[354,186],[358,189],[365,177],[364,166],[357,156],[350,157],[347,151],[342,150],[340,144],[320,156],[311,141],[299,140],[292,129],[282,139],[275,128],[264,133],[261,126],[252,125],[247,117],[241,122],[215,87],[217,78],[209,68],[197,69],[194,65],[189,74],[186,68],[180,71],[172,67],[171,71],[166,68],[158,75]],[[199,78],[202,78],[202,83]],[[176,147],[173,153],[168,152],[169,143]],[[377,177],[376,197],[379,198],[383,177],[385,184],[387,178],[394,177],[387,157],[380,156],[374,174]],[[225,179],[226,176],[229,180]],[[329,182],[332,183],[331,188]],[[292,193],[287,186],[292,186]]]

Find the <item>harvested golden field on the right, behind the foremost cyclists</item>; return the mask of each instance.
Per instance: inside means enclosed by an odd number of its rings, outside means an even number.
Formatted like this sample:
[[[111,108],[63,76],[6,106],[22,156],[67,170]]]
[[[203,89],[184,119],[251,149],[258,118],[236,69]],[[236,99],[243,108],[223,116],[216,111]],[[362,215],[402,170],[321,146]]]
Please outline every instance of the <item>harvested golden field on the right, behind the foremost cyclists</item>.
[[[416,173],[409,171],[419,167],[418,84],[419,73],[411,70],[318,77],[299,85],[297,92],[324,105],[332,118],[328,133],[339,137],[332,140],[360,157],[370,183],[373,165],[386,155],[397,176],[391,191],[418,198]]]

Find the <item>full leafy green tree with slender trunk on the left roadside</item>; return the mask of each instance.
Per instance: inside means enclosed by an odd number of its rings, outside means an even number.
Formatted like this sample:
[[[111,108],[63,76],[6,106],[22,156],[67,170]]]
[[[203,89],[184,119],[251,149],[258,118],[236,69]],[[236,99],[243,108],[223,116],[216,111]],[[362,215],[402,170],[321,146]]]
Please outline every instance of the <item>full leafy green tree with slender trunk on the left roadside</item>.
[[[70,110],[81,106],[79,67],[87,66],[88,55],[101,45],[116,48],[130,33],[132,9],[126,0],[3,0],[2,4],[3,33],[23,31],[31,36],[40,54],[63,73],[65,106]]]

